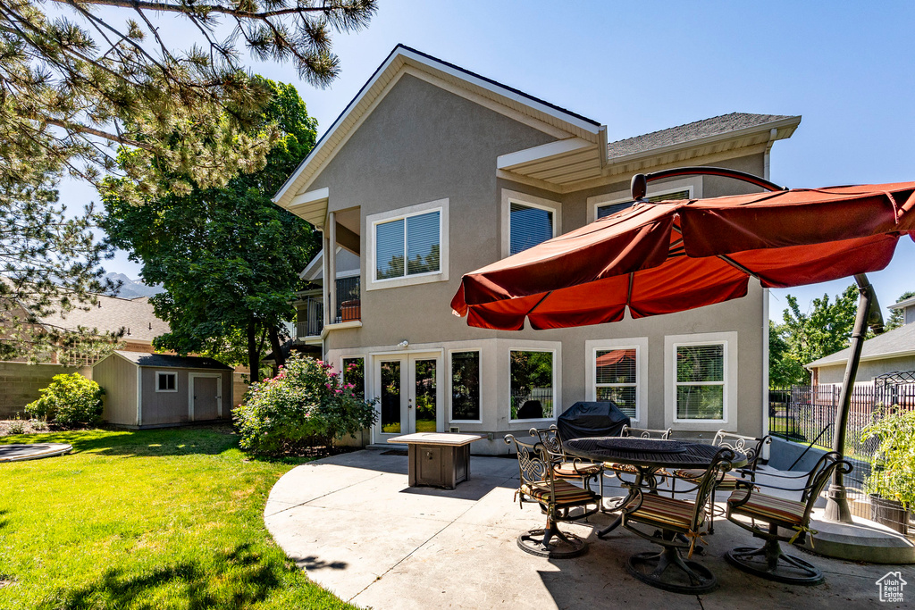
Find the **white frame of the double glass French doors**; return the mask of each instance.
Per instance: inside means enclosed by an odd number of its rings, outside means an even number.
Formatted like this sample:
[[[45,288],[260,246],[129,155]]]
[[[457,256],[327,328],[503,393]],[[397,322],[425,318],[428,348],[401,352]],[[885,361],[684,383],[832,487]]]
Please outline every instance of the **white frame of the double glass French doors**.
[[[445,384],[444,384],[444,352],[441,349],[415,352],[386,352],[383,354],[374,354],[371,358],[372,368],[372,391],[374,396],[381,400],[382,397],[382,361],[390,362],[399,360],[401,364],[401,431],[399,433],[382,432],[381,402],[378,404],[378,422],[372,428],[376,443],[384,443],[386,439],[393,438],[401,434],[415,432],[416,429],[416,410],[414,408],[416,397],[414,396],[415,388],[415,370],[414,363],[416,360],[435,360],[436,361],[436,430],[443,430],[445,425],[444,408],[445,408]]]

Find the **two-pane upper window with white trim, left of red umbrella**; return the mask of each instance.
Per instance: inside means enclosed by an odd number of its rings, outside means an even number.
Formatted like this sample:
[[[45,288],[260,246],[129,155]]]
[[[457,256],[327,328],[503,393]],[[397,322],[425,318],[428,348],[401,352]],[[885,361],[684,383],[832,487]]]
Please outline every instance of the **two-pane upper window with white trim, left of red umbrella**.
[[[447,199],[373,214],[366,290],[447,280]]]

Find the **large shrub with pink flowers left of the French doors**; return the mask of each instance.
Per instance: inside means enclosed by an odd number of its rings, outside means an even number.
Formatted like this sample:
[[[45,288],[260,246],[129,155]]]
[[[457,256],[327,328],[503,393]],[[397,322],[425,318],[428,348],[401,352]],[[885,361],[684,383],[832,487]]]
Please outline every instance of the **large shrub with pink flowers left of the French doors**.
[[[375,423],[375,401],[362,401],[352,384],[321,360],[293,354],[279,373],[253,383],[232,412],[242,449],[262,455],[329,447]]]

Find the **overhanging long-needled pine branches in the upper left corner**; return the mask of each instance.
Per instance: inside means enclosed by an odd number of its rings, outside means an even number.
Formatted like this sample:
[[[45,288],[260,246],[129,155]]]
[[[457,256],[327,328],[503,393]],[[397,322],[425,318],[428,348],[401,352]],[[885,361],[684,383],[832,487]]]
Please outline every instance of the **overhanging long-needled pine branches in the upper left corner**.
[[[281,137],[262,120],[269,90],[242,70],[241,51],[326,86],[339,72],[332,33],[366,27],[375,10],[376,0],[5,1],[0,185],[66,172],[135,202],[223,187],[264,166]],[[161,32],[176,20],[189,27],[170,45]],[[124,148],[133,154],[119,159]],[[102,184],[115,170],[131,179]]]

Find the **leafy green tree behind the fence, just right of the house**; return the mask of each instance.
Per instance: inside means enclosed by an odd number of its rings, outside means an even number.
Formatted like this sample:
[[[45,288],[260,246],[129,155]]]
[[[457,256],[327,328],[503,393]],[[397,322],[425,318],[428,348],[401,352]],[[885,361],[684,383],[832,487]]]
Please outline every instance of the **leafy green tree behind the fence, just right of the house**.
[[[774,370],[776,379],[786,385],[810,383],[810,373],[803,365],[848,347],[855,327],[857,300],[857,288],[853,284],[832,303],[828,294],[813,299],[812,311],[803,313],[797,298],[789,294],[788,309],[782,314],[784,322],[775,326],[776,349],[770,348],[770,380]],[[778,344],[779,340],[787,348]]]

